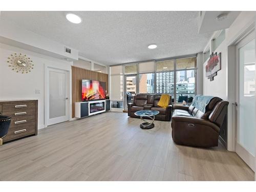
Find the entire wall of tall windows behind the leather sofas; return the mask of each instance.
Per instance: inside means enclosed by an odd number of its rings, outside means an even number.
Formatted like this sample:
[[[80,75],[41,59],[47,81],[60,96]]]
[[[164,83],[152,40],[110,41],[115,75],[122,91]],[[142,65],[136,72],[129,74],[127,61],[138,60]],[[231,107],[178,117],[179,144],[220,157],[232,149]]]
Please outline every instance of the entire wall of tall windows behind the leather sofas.
[[[197,57],[110,67],[110,79],[112,108],[126,109],[126,103],[137,93],[165,93],[174,103],[191,102],[197,94]]]

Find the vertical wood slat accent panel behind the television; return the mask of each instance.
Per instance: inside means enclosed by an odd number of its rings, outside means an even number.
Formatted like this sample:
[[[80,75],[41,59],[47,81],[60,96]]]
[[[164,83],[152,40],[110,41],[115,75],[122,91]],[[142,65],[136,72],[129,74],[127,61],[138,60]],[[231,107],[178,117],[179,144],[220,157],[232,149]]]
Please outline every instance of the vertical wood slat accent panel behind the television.
[[[106,90],[109,93],[109,75],[72,66],[72,118],[75,117],[75,102],[81,102],[82,79],[90,79],[106,82]]]

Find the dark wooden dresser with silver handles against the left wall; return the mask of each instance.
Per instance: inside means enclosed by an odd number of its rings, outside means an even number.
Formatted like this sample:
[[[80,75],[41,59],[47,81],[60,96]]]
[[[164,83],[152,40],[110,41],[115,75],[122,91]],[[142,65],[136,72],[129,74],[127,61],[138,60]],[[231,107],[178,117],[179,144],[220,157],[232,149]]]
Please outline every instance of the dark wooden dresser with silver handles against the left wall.
[[[3,142],[37,135],[38,100],[0,101],[0,114],[11,117],[11,124]]]

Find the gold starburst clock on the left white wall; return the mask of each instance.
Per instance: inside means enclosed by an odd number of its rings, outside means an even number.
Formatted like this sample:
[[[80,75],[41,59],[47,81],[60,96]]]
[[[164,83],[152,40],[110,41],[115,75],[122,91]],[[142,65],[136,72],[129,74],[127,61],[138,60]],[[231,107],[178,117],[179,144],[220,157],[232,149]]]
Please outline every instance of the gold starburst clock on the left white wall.
[[[8,57],[7,63],[9,67],[17,73],[28,73],[34,68],[33,61],[27,56],[21,53],[11,54]]]

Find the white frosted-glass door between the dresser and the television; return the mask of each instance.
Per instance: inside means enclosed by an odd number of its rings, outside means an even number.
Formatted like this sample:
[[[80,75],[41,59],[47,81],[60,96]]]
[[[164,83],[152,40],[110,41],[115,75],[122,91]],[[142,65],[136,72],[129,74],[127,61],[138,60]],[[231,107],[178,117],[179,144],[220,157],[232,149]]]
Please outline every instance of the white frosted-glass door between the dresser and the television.
[[[47,68],[47,125],[69,120],[68,72]]]

